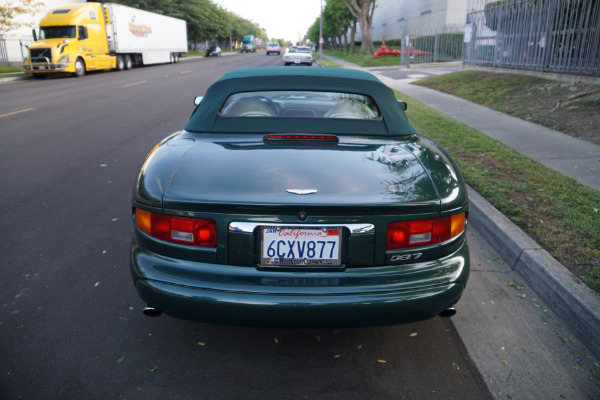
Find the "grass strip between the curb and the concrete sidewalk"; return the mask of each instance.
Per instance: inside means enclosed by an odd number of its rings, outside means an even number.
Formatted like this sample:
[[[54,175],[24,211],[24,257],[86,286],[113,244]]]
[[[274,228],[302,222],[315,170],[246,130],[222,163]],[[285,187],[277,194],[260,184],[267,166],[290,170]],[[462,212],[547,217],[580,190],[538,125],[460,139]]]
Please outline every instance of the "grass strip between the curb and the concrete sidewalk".
[[[396,94],[407,101],[412,125],[450,153],[469,185],[600,292],[600,192]]]

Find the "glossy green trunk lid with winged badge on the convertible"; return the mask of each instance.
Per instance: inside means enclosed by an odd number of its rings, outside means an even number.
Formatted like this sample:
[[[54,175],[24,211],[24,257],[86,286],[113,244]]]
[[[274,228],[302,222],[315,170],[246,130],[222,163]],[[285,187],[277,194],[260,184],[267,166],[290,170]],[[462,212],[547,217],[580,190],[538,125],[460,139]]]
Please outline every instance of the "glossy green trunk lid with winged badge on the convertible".
[[[439,196],[419,161],[401,144],[344,139],[200,142],[182,158],[164,207],[420,206],[439,211]]]

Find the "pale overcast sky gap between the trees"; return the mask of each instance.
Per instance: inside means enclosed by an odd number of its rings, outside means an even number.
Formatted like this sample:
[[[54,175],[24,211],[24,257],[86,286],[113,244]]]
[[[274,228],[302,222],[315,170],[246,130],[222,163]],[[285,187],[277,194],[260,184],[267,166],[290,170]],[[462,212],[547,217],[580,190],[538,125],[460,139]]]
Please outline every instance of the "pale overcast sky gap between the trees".
[[[269,38],[298,41],[320,15],[321,0],[213,0],[257,23]]]

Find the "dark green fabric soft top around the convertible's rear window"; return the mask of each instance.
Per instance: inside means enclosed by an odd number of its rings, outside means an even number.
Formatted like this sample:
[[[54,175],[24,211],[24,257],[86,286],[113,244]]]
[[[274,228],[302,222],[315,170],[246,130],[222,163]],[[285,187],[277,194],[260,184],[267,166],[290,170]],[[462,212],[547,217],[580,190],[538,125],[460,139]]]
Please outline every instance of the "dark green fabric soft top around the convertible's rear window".
[[[219,117],[221,106],[233,93],[277,90],[314,90],[370,96],[379,107],[382,119]],[[415,133],[394,92],[373,75],[359,70],[311,67],[243,68],[228,72],[208,89],[185,129],[206,133]]]

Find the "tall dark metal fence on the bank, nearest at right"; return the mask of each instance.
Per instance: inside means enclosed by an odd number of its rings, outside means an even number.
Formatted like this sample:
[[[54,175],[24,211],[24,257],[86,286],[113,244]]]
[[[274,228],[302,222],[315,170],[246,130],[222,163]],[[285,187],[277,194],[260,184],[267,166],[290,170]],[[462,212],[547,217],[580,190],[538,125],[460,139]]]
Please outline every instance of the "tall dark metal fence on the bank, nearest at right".
[[[465,64],[600,76],[600,1],[488,2],[464,41]]]

